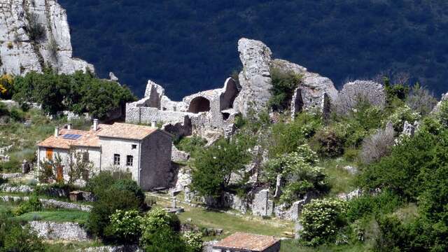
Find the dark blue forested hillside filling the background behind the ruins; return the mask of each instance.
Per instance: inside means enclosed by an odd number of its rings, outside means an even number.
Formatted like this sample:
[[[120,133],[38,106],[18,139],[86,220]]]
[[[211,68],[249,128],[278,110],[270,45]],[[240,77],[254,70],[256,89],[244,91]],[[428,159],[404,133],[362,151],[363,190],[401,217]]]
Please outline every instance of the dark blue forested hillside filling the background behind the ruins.
[[[264,41],[274,57],[341,85],[407,71],[448,90],[448,2],[438,0],[59,0],[74,54],[113,71],[141,96],[146,80],[174,98],[219,87],[240,63],[237,40]]]

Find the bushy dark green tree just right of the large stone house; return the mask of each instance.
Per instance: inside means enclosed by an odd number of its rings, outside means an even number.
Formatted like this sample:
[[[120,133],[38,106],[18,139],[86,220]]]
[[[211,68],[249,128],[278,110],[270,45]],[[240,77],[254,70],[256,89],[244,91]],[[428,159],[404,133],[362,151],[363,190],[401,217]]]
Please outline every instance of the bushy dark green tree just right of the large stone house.
[[[228,189],[232,173],[241,174],[248,158],[246,149],[235,141],[217,141],[195,158],[192,189],[202,196],[220,198]]]

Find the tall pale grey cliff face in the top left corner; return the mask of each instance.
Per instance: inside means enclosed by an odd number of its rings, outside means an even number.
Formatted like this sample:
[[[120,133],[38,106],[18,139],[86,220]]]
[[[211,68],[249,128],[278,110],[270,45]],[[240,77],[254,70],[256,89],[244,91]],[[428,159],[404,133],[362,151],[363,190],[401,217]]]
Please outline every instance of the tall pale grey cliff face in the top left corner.
[[[0,73],[52,66],[73,73],[94,66],[72,57],[66,10],[54,0],[0,0]]]

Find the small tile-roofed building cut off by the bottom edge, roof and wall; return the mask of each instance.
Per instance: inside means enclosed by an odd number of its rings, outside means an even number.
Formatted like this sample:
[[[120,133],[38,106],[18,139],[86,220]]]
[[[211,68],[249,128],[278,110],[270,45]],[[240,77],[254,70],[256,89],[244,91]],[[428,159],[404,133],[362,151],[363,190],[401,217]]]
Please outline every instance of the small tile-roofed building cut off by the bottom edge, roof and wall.
[[[267,235],[236,232],[217,244],[212,252],[279,252],[280,240]]]

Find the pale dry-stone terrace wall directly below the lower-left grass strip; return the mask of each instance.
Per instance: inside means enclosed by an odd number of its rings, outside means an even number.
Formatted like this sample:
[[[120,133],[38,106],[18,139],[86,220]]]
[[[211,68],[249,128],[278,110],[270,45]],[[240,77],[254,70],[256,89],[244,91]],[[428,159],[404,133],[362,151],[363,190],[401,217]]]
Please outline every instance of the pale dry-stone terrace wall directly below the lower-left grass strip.
[[[47,240],[87,241],[87,232],[78,223],[55,223],[51,221],[31,221],[29,226],[38,237]]]

